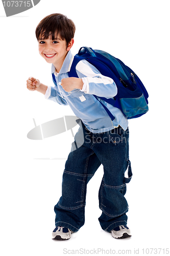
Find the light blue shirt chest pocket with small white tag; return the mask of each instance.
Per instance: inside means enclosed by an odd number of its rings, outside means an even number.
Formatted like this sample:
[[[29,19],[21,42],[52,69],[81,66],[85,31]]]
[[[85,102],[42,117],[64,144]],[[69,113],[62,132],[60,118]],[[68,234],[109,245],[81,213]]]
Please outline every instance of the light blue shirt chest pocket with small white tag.
[[[85,94],[81,91],[71,93],[72,99],[74,100],[76,109],[81,111],[88,106],[92,105],[94,101],[94,97],[90,94]]]

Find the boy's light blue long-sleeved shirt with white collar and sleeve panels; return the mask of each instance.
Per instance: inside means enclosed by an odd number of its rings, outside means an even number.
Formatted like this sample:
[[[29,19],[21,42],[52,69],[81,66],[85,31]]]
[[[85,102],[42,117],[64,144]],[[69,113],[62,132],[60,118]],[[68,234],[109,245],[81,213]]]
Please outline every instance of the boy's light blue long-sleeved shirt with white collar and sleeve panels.
[[[79,78],[83,78],[85,89],[75,89],[71,92],[63,90],[61,79],[68,77],[73,59],[74,55],[69,51],[58,74],[52,64],[52,74],[55,74],[56,84],[55,87],[48,87],[45,98],[59,104],[69,105],[75,115],[83,121],[92,133],[104,133],[118,127],[118,125],[126,131],[128,120],[122,111],[102,101],[115,117],[112,121],[102,104],[92,95],[105,98],[114,97],[117,94],[115,82],[111,78],[103,76],[86,60],[81,60],[76,66],[76,72]]]

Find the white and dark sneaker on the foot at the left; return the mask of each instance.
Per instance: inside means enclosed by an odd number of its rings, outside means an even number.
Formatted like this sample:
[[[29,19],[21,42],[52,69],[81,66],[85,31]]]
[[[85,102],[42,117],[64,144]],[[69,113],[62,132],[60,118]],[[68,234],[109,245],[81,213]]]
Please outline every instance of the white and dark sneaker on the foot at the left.
[[[56,227],[52,232],[52,237],[54,240],[67,240],[71,237],[71,233],[73,233],[67,227]]]

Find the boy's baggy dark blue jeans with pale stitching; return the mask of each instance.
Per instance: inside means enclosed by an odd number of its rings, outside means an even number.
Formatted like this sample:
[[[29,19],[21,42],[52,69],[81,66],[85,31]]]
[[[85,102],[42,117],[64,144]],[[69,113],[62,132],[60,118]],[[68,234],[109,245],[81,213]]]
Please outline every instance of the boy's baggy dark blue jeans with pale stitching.
[[[128,203],[124,196],[126,183],[132,177],[129,130],[119,126],[109,132],[91,133],[81,122],[65,163],[62,196],[54,208],[56,226],[76,232],[84,225],[87,183],[101,164],[104,167],[99,190],[101,227],[110,232],[118,225],[127,224]],[[128,178],[125,178],[127,168]]]

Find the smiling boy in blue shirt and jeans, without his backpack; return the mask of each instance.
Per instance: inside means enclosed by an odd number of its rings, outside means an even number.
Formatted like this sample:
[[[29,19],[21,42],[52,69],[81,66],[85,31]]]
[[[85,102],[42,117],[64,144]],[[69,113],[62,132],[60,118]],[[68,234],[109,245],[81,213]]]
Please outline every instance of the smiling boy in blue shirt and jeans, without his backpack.
[[[55,206],[53,238],[67,240],[71,232],[77,232],[84,225],[86,186],[101,164],[104,166],[99,190],[101,227],[111,232],[114,238],[131,237],[127,227],[128,203],[124,197],[126,183],[131,179],[125,178],[128,166],[130,169],[128,120],[119,109],[104,102],[115,117],[112,121],[94,98],[92,94],[114,97],[117,88],[111,78],[103,76],[86,60],[81,60],[76,66],[79,78],[68,77],[74,59],[70,52],[74,34],[75,25],[66,16],[51,14],[43,18],[36,28],[36,37],[40,55],[52,64],[55,88],[47,87],[33,77],[27,80],[30,91],[41,92],[46,99],[59,104],[68,104],[81,119],[65,163],[62,196]]]

